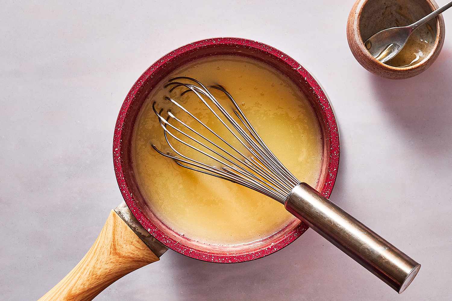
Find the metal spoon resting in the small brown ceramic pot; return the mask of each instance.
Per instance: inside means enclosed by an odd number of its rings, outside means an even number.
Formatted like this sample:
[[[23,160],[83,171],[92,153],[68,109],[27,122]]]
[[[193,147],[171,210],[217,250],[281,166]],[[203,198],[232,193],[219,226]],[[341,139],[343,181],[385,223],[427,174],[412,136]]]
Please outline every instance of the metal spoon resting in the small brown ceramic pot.
[[[419,26],[427,23],[430,19],[438,16],[446,9],[452,7],[452,1],[441,6],[439,9],[434,10],[430,14],[426,15],[419,21],[404,27],[393,27],[377,32],[372,37],[369,37],[364,43],[370,54],[379,60],[381,63],[386,62],[393,58],[410,37],[411,33]]]

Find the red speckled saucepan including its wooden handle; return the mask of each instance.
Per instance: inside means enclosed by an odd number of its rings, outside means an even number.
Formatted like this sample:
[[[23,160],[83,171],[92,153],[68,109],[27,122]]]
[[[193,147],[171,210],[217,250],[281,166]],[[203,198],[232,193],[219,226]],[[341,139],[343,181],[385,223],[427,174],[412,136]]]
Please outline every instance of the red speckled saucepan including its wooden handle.
[[[323,164],[317,191],[329,197],[339,164],[339,134],[333,110],[317,81],[291,57],[255,41],[214,38],[182,46],[157,60],[133,85],[119,111],[114,129],[113,163],[119,189],[128,208],[149,234],[180,254],[215,263],[236,263],[258,259],[281,250],[308,228],[294,220],[278,234],[241,246],[200,245],[180,236],[160,222],[145,205],[131,166],[131,138],[140,107],[151,90],[174,69],[199,57],[215,55],[248,56],[261,60],[286,74],[306,94],[317,114],[323,135]],[[272,201],[272,200],[269,200]],[[135,229],[136,231],[136,229]],[[142,233],[141,233],[142,234]],[[155,252],[154,252],[155,253]],[[109,284],[127,273],[158,260],[135,232],[112,211],[101,234],[87,255],[41,300],[91,300]]]

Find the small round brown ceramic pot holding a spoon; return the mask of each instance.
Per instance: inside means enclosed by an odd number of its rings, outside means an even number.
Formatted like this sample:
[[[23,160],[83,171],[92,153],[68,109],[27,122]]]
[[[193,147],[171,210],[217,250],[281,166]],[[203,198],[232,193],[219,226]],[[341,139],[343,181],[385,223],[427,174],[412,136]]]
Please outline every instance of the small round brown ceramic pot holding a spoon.
[[[383,64],[367,51],[364,42],[383,29],[414,23],[437,8],[438,5],[433,0],[357,0],[348,15],[348,46],[359,64],[381,77],[407,79],[418,75],[433,64],[443,48],[444,19],[442,15],[424,25],[436,39],[431,49],[424,53],[423,59],[414,65],[393,67]]]

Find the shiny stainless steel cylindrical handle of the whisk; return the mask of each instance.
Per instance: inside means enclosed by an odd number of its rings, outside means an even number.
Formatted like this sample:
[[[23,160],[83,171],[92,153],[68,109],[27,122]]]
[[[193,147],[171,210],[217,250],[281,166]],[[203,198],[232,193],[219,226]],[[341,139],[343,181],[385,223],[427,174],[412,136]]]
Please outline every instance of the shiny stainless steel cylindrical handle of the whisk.
[[[292,189],[284,206],[399,294],[419,272],[420,264],[306,183]]]

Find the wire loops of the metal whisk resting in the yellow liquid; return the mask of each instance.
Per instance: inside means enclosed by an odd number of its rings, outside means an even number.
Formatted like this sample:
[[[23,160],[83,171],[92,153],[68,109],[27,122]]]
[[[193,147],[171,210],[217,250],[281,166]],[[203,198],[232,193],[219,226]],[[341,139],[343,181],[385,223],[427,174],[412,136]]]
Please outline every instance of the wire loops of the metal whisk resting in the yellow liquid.
[[[212,126],[208,126],[206,122],[196,117],[180,101],[165,97],[166,101],[178,109],[180,113],[177,114],[178,116],[169,109],[166,110],[166,117],[164,117],[164,109],[158,111],[155,107],[156,102],[153,102],[152,109],[163,129],[165,141],[175,155],[172,152],[165,153],[159,150],[154,144],[152,148],[162,156],[173,159],[181,167],[243,185],[284,204],[291,190],[300,184],[300,181],[267,147],[231,94],[221,85],[209,87],[226,95],[231,101],[235,117],[198,80],[179,76],[170,79],[165,85],[165,88],[170,88],[170,93],[178,87],[185,88],[179,96],[194,93],[202,105],[206,106],[230,133],[228,136],[231,138],[226,139],[224,135],[212,129]],[[193,122],[197,125],[196,128],[191,126]],[[208,159],[202,160],[184,154],[170,140],[177,141],[176,144],[185,145],[201,154],[201,158]],[[209,161],[216,163],[209,164]]]

